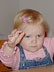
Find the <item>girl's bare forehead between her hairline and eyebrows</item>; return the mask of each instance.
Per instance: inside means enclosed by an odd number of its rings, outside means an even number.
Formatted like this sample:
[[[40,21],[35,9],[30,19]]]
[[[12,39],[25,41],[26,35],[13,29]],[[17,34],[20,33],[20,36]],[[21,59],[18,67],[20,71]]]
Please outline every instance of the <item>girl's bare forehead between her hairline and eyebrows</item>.
[[[27,25],[22,31],[26,34],[42,34],[44,32],[43,27],[40,24]]]

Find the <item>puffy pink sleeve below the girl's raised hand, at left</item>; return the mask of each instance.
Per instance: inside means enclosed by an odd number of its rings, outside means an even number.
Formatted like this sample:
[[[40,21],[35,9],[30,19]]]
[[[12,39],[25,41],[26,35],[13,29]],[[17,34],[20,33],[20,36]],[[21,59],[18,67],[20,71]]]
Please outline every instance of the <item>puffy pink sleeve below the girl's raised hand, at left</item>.
[[[16,65],[16,62],[18,61],[17,59],[19,59],[18,48],[16,47],[13,53],[9,56],[5,56],[3,49],[4,49],[4,45],[0,49],[0,61],[8,67],[14,67]]]

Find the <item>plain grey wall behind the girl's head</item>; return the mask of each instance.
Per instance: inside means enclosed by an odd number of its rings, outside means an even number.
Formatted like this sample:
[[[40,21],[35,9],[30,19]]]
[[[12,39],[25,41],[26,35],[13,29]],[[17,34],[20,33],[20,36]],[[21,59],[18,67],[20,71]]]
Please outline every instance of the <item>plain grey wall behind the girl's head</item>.
[[[54,36],[54,0],[0,0],[0,40],[8,39],[15,15],[26,8],[40,11],[50,27],[48,36]]]

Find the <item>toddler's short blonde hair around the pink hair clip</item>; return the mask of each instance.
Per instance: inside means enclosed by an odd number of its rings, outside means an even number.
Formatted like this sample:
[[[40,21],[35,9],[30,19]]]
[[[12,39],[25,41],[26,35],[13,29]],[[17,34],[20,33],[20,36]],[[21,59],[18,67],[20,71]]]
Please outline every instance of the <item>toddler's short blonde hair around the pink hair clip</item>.
[[[14,18],[14,29],[18,29],[22,24],[24,24],[23,17],[27,19],[28,24],[35,24],[36,22],[39,22],[45,30],[45,32],[49,32],[49,27],[47,22],[44,20],[43,15],[33,9],[24,9],[17,13],[17,15]]]

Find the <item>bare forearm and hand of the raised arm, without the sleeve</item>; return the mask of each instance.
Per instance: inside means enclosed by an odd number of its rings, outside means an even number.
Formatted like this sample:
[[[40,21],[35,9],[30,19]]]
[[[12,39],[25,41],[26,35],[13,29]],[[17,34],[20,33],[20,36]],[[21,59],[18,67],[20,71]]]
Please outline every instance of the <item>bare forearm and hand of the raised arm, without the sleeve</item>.
[[[4,45],[4,54],[10,55],[14,50],[17,44],[22,40],[24,33],[22,31],[13,30],[12,33],[8,36],[8,42]]]

